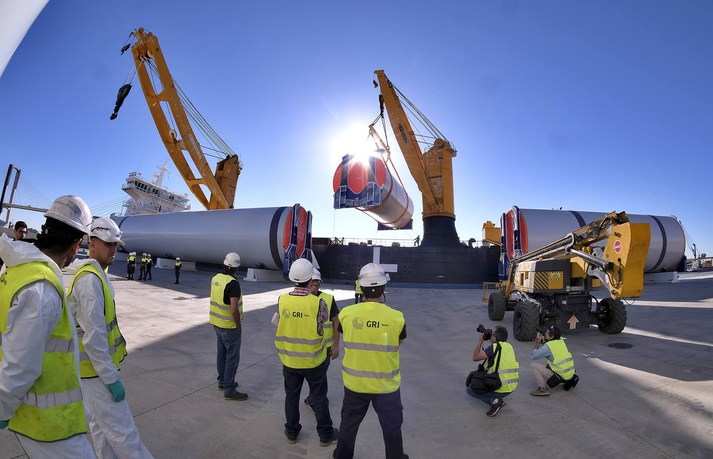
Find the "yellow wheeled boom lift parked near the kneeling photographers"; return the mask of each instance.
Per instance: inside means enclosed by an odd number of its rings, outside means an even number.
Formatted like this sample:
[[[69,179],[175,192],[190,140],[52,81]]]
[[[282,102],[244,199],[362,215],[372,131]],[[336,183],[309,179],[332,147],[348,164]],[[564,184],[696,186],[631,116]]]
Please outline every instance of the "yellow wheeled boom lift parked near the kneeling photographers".
[[[552,325],[586,329],[596,324],[603,333],[620,333],[627,319],[622,299],[637,298],[644,287],[650,239],[648,223],[631,223],[626,212],[611,212],[515,258],[503,288],[488,298],[488,317],[503,320],[506,310],[514,310],[518,341],[533,340],[538,329]],[[597,300],[591,294],[597,281],[610,297]]]

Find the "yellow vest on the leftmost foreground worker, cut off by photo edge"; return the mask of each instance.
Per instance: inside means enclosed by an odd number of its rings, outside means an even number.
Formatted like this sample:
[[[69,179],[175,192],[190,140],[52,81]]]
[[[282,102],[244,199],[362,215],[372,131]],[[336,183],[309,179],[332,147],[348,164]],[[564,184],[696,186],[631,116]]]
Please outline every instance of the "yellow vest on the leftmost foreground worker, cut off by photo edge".
[[[38,441],[65,440],[86,433],[82,390],[79,386],[72,329],[62,284],[45,262],[9,267],[0,276],[0,334],[7,331],[7,314],[14,296],[34,282],[50,282],[62,299],[62,314],[45,344],[42,371],[10,418],[13,432]],[[0,361],[2,361],[0,346]]]

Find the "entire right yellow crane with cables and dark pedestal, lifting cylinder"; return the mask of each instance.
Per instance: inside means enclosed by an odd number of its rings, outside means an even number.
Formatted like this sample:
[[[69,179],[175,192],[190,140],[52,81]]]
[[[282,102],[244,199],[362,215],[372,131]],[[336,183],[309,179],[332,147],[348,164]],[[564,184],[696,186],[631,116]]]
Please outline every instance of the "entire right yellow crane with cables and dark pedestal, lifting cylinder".
[[[384,131],[386,130],[384,121],[384,108],[386,108],[391,129],[394,130],[409,172],[414,177],[423,197],[424,239],[421,246],[458,246],[460,240],[456,232],[456,214],[453,205],[453,157],[456,156],[456,148],[453,148],[441,131],[389,81],[389,78],[386,78],[383,70],[374,73],[376,73],[374,87],[381,90],[379,94],[381,113],[374,123],[369,125],[369,133],[386,151],[387,158],[390,160],[389,145],[374,128],[374,125],[381,120]],[[401,99],[406,103],[406,110],[421,122],[429,135],[414,132],[404,105],[401,105]],[[426,153],[421,153],[419,144],[429,146]]]

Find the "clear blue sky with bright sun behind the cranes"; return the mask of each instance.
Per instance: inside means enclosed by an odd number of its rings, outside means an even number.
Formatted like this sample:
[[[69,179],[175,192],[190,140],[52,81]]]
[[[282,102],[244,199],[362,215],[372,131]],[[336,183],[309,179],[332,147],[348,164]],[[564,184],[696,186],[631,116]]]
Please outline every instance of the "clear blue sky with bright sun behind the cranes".
[[[51,0],[0,77],[1,167],[19,165],[48,197],[95,206],[123,195],[128,172],[148,177],[168,158],[138,79],[109,120],[131,64],[118,49],[143,26],[241,154],[236,207],[299,202],[315,236],[420,234],[397,148],[413,230],[377,233],[361,212],[332,209],[334,169],[378,115],[371,79],[384,69],[458,148],[461,239],[481,239],[512,205],[626,210],[677,215],[713,253],[709,1],[106,5]],[[167,184],[188,192],[178,173]]]

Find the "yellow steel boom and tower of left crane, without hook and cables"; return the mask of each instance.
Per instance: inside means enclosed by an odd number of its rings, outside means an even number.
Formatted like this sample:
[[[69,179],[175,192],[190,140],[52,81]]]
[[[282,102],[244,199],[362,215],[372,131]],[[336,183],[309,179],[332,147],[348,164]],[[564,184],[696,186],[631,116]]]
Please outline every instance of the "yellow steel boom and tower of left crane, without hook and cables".
[[[148,103],[148,109],[156,124],[163,145],[168,150],[168,154],[178,168],[178,172],[183,176],[183,180],[185,180],[193,195],[198,198],[206,209],[232,208],[237,179],[242,170],[240,159],[237,155],[227,155],[227,158],[217,164],[215,175],[213,174],[190,125],[188,114],[183,108],[173,77],[168,71],[163,52],[158,45],[158,38],[143,28],[134,31],[132,35],[136,38],[136,42],[131,46],[131,52],[133,53],[141,88],[146,98],[146,103]],[[156,93],[156,88],[151,82],[147,69],[150,60],[155,62],[155,71],[157,71],[160,78],[162,89],[159,93]],[[160,102],[168,103],[171,113],[173,113],[178,133],[170,128]],[[180,139],[178,138],[179,135]],[[193,174],[183,153],[184,150],[188,151],[200,177],[196,177]],[[205,196],[200,185],[204,185],[210,191],[210,200]]]

